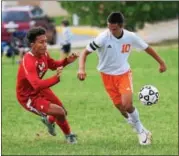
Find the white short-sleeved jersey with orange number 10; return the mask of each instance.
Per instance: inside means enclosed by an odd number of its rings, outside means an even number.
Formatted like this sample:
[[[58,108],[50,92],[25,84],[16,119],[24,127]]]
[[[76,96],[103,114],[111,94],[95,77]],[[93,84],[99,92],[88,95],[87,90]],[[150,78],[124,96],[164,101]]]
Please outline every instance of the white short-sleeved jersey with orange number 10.
[[[121,75],[130,70],[128,57],[132,48],[144,50],[148,44],[135,33],[123,29],[121,38],[114,37],[109,30],[99,34],[86,49],[93,52],[98,49],[99,63],[97,69],[110,75]]]

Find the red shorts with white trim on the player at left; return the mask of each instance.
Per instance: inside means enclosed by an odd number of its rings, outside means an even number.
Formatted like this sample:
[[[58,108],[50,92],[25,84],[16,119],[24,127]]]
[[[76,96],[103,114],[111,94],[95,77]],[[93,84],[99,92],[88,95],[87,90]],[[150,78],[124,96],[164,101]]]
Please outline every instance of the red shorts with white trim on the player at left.
[[[38,115],[46,114],[49,108],[49,104],[57,104],[62,106],[62,102],[52,92],[51,89],[44,89],[35,97],[28,99],[26,103],[20,103],[26,110]]]

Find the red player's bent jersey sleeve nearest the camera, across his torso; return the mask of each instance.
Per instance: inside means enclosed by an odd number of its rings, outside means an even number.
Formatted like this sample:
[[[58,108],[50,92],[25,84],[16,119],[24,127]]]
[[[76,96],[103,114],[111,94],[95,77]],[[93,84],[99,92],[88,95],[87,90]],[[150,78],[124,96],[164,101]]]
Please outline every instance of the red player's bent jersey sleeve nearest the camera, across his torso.
[[[39,91],[41,89],[49,88],[60,81],[57,76],[41,80],[37,75],[35,62],[35,59],[31,57],[24,57],[22,62],[26,78],[30,82],[34,90]]]

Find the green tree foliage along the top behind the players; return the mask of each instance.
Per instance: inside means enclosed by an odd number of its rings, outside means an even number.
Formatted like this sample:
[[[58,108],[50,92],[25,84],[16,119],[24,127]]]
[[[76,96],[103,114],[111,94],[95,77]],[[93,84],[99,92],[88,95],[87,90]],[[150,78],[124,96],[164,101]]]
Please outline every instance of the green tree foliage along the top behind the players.
[[[70,15],[76,13],[80,24],[106,26],[107,16],[113,11],[121,11],[125,16],[126,28],[136,30],[145,22],[155,22],[178,16],[179,2],[160,1],[63,1],[61,6]]]

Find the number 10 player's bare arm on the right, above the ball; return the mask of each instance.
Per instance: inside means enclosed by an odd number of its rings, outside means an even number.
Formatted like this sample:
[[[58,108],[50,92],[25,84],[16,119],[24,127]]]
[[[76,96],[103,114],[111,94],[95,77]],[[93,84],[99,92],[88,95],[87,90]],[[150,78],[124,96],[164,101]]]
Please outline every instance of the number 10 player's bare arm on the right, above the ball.
[[[166,66],[164,60],[162,60],[162,58],[157,54],[157,52],[155,52],[155,50],[153,48],[148,47],[147,49],[145,49],[145,51],[159,63],[159,65],[160,65],[159,72],[163,73],[167,70],[167,66]]]

